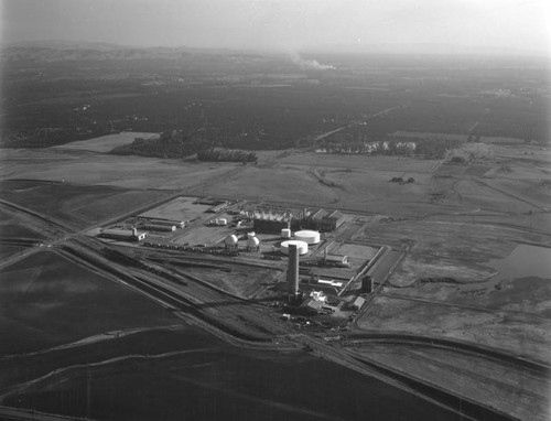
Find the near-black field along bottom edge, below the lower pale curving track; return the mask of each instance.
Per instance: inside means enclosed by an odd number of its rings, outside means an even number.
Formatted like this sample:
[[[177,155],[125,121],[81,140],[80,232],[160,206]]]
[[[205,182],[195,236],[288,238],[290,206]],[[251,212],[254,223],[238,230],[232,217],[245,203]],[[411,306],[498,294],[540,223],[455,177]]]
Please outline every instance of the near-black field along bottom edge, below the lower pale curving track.
[[[195,342],[197,335],[182,341]],[[204,341],[202,341],[204,343]],[[339,390],[327,378],[341,379]],[[302,396],[305,387],[317,387]],[[136,399],[136,392],[140,399]],[[91,406],[87,406],[87,393]],[[350,404],[350,401],[354,404]],[[133,355],[75,366],[23,385],[3,404],[95,419],[356,420],[358,415],[412,421],[447,420],[451,412],[411,393],[306,353],[247,350],[212,341],[181,353]],[[216,404],[213,404],[216,402]]]

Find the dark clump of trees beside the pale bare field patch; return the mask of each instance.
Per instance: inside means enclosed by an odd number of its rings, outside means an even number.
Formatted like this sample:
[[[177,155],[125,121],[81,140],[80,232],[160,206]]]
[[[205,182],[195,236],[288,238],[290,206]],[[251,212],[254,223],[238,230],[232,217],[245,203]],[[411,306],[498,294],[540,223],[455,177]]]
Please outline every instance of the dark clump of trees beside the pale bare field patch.
[[[137,138],[130,144],[123,144],[111,150],[119,155],[141,155],[155,158],[184,158],[207,148],[207,142],[198,137],[190,137],[182,130],[171,130],[161,133],[159,138]]]

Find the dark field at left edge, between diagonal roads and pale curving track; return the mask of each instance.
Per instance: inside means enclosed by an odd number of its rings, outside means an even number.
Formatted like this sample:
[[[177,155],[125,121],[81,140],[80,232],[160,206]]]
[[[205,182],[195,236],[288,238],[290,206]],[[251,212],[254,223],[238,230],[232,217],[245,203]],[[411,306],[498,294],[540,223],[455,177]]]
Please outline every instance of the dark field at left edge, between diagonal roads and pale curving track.
[[[4,268],[0,278],[0,355],[177,323],[160,305],[51,251]]]

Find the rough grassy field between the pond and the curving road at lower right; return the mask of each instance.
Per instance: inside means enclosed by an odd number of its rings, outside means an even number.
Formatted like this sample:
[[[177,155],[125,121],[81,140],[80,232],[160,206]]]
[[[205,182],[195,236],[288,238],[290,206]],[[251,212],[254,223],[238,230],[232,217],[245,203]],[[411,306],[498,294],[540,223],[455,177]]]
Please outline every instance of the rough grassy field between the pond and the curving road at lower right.
[[[549,289],[544,292],[549,298]],[[540,301],[541,296],[532,296],[532,302]],[[371,302],[358,325],[369,331],[447,337],[551,361],[551,320],[532,313],[476,306],[472,300],[463,300],[461,304],[444,300],[419,302],[404,295],[382,294]]]

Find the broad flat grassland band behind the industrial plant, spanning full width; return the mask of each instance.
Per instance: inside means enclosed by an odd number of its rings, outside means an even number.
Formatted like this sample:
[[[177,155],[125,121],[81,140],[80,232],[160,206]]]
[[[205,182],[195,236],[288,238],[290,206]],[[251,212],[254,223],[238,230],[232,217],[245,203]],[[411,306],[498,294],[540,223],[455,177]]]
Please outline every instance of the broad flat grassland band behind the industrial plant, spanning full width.
[[[439,166],[440,161],[413,158],[261,151],[258,165],[244,166],[51,148],[24,154],[8,150],[0,171],[4,179],[183,190],[410,217],[477,209],[518,214],[551,207],[551,195],[541,180],[545,163],[551,162],[548,151],[519,145],[512,152],[511,147],[467,143],[454,153],[473,153],[475,159]],[[390,182],[398,176],[413,177],[414,183]]]

